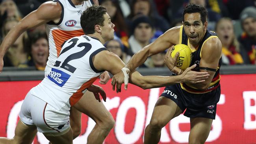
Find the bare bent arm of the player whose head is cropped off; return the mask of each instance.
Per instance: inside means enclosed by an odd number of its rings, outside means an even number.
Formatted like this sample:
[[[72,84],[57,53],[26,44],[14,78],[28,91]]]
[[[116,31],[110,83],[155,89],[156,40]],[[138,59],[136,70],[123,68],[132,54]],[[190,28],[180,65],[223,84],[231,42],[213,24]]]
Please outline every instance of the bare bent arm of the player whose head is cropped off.
[[[0,72],[4,66],[3,57],[6,54],[9,47],[16,41],[16,39],[26,30],[40,26],[50,20],[56,20],[61,17],[61,6],[58,2],[45,2],[39,8],[14,26],[4,38],[4,41],[0,45]]]

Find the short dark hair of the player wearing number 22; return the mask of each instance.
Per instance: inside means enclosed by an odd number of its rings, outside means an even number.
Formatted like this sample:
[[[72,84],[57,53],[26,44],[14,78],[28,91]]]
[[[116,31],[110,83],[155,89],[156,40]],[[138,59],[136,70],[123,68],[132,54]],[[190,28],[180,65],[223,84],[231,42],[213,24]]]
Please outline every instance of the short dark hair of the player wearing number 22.
[[[104,26],[103,15],[107,12],[105,7],[102,6],[91,6],[88,7],[81,15],[81,26],[83,32],[88,34],[95,33],[95,25]]]

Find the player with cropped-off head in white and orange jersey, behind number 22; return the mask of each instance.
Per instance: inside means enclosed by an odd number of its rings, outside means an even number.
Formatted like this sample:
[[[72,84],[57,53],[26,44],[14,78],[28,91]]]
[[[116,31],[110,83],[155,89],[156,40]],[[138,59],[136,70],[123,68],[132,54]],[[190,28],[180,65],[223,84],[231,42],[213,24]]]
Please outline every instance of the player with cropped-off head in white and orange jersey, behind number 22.
[[[98,0],[93,0],[98,4]],[[0,72],[4,62],[3,57],[9,47],[26,30],[46,24],[46,32],[49,41],[49,52],[45,75],[49,73],[60,54],[61,44],[68,39],[84,35],[80,25],[82,11],[92,6],[89,0],[54,0],[43,3],[37,10],[28,14],[20,20],[17,26],[13,27],[0,45]],[[109,80],[108,72],[100,76],[100,83],[107,83]],[[77,110],[79,107],[79,111]],[[92,108],[93,107],[93,108]],[[88,142],[102,142],[104,136],[114,126],[112,115],[102,104],[97,102],[92,92],[87,91],[85,96],[77,105],[70,109],[70,125],[73,130],[74,138],[81,133],[81,112],[95,120],[96,125],[88,136]],[[93,113],[98,111],[98,113]]]

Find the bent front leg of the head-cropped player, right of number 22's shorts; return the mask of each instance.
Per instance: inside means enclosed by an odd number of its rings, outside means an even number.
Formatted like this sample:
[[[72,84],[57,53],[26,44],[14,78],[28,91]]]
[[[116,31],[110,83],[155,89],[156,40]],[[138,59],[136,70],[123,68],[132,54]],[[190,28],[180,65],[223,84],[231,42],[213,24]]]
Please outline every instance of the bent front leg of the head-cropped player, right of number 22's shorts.
[[[102,102],[95,99],[93,92],[85,92],[74,105],[82,113],[92,118],[96,125],[87,138],[87,144],[102,144],[109,131],[114,127],[115,120]]]

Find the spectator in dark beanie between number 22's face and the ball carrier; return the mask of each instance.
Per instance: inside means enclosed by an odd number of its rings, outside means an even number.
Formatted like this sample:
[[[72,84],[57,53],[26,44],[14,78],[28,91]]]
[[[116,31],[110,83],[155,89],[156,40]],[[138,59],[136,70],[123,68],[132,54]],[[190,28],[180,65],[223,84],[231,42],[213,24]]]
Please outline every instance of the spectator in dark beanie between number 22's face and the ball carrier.
[[[130,45],[130,52],[128,54],[130,55],[134,55],[144,46],[150,44],[150,39],[154,33],[153,24],[147,16],[137,15],[132,22],[132,32],[133,35],[128,40]],[[152,67],[151,59],[147,59],[141,67]]]

